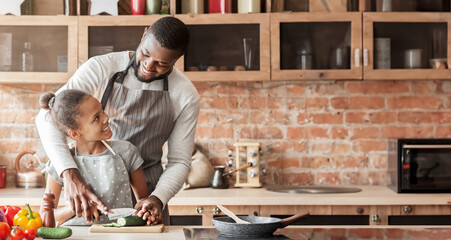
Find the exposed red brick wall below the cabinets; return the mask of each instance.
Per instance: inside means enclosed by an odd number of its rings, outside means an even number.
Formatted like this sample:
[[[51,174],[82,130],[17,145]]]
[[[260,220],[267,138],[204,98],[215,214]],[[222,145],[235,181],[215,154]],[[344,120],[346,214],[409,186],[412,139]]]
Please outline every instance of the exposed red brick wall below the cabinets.
[[[195,83],[196,142],[224,165],[235,141],[259,141],[277,184],[385,185],[387,139],[451,137],[451,81]],[[0,85],[0,165],[26,148],[45,158],[34,127],[42,92],[59,85]]]

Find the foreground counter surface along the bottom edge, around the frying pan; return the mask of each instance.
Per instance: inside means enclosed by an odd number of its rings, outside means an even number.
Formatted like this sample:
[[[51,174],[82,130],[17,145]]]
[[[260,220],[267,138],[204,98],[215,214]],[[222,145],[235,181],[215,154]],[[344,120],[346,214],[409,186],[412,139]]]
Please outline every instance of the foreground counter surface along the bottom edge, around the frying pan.
[[[70,239],[121,239],[121,240],[182,240],[185,239],[183,228],[189,229],[190,238],[187,239],[236,239],[218,236],[214,227],[190,227],[190,226],[168,226],[162,233],[90,233],[88,227],[71,227],[73,234]],[[277,239],[331,239],[343,237],[358,239],[425,239],[424,236],[431,236],[434,239],[447,239],[451,235],[451,228],[443,226],[428,226],[419,228],[412,226],[397,227],[349,227],[349,226],[289,226],[278,229],[274,235]],[[247,238],[249,239],[249,238]],[[270,237],[258,239],[273,239]],[[274,239],[275,236],[274,236]]]

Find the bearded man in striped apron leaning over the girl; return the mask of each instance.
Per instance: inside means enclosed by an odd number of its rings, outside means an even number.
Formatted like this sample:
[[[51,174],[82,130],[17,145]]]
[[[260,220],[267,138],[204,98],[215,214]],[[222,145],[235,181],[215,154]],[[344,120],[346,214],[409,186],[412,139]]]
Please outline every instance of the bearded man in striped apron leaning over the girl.
[[[174,68],[188,42],[189,32],[183,22],[174,17],[161,18],[146,28],[136,52],[93,57],[58,90],[79,89],[99,99],[110,116],[112,139],[127,140],[138,147],[151,195],[136,208],[150,216],[152,224],[161,222],[162,216],[169,224],[165,206],[190,170],[200,98],[189,79]],[[42,144],[64,179],[65,195],[76,215],[90,222],[87,209],[91,203],[108,209],[80,177],[65,137],[45,117],[46,112],[41,110],[36,118]],[[168,164],[163,172],[160,161],[166,141]]]

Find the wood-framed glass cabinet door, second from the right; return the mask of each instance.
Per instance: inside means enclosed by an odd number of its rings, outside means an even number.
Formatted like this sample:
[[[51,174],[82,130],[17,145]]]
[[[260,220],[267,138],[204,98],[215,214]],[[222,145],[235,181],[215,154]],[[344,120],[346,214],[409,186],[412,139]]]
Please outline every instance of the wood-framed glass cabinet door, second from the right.
[[[362,79],[360,13],[272,13],[271,80]]]

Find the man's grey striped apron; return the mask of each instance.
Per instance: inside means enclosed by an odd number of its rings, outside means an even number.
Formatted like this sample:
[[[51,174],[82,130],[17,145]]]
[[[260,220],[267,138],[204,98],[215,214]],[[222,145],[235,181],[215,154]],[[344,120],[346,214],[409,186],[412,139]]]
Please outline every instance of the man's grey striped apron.
[[[135,55],[124,71],[110,78],[101,103],[110,116],[111,139],[129,141],[138,148],[144,159],[147,187],[152,193],[163,173],[162,146],[172,131],[174,107],[169,97],[167,75],[163,78],[162,91],[129,89],[122,84],[134,62]],[[163,211],[163,223],[169,225],[167,209]]]

